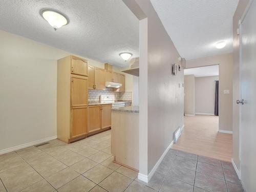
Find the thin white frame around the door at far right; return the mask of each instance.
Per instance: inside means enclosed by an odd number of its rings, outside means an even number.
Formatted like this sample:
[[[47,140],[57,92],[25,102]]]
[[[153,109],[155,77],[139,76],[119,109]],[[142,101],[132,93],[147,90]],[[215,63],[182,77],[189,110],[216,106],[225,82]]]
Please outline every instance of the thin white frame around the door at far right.
[[[244,21],[244,18],[246,16],[246,14],[248,13],[250,7],[251,7],[251,4],[254,0],[249,0],[245,10],[244,10],[244,13],[242,15],[242,17],[239,19],[239,22],[238,22],[238,27],[239,27],[239,97],[238,99],[241,99],[242,98],[242,49],[241,49],[241,46],[242,46],[242,38],[241,38],[241,34],[242,34],[242,23]],[[238,177],[241,181],[241,184],[243,186],[243,182],[241,180],[241,164],[242,164],[242,106],[241,104],[239,104],[239,172],[237,173],[238,174]],[[235,164],[234,164],[235,165]],[[237,170],[236,170],[237,171]],[[244,187],[243,187],[244,188]]]

